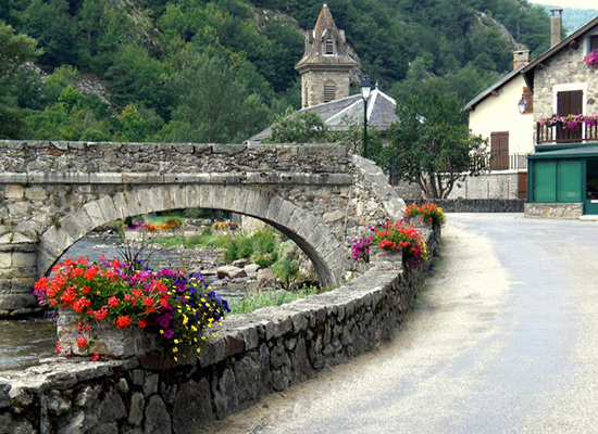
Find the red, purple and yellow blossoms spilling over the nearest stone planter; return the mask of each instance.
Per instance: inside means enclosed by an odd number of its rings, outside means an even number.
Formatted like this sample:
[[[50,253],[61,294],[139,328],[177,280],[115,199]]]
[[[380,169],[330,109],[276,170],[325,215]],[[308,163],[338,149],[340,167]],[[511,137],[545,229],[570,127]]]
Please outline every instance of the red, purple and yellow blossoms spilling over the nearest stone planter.
[[[51,277],[36,282],[34,294],[42,306],[78,316],[79,347],[91,345],[91,323],[104,322],[157,333],[175,361],[183,349],[204,341],[204,332],[229,311],[199,273],[136,269],[103,257],[99,263],[78,258],[58,264]]]

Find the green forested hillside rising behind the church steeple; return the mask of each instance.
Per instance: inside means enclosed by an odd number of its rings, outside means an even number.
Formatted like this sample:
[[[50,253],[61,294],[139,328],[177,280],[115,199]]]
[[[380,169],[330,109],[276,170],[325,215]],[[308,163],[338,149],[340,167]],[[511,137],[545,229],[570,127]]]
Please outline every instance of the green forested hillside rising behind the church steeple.
[[[300,103],[321,0],[0,0],[0,138],[240,142]],[[329,0],[394,97],[465,101],[548,48],[526,0]],[[512,37],[512,39],[511,39]]]

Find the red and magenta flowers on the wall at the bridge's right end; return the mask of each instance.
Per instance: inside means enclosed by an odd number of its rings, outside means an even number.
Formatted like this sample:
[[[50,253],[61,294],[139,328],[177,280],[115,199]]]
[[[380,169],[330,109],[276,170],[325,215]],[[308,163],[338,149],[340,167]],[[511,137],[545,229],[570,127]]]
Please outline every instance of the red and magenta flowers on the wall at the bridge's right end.
[[[403,261],[409,268],[414,268],[422,260],[429,258],[427,245],[413,225],[402,221],[387,221],[377,227],[369,227],[370,233],[353,240],[351,255],[353,260],[370,261],[372,248],[402,252]]]

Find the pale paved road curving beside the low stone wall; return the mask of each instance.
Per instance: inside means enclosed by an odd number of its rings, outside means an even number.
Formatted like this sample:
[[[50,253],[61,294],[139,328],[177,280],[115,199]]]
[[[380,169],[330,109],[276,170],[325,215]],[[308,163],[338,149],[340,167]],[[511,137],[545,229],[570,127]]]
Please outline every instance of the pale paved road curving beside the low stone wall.
[[[598,222],[451,214],[379,350],[212,433],[598,433]]]

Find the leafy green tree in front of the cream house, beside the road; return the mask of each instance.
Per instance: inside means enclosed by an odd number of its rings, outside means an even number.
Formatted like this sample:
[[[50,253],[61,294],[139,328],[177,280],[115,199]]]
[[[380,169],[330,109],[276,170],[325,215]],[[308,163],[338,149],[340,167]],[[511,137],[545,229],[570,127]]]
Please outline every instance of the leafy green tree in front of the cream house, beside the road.
[[[456,93],[439,92],[397,104],[387,161],[428,199],[447,197],[456,182],[486,169],[487,142],[470,132],[461,106]]]

